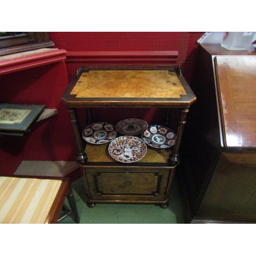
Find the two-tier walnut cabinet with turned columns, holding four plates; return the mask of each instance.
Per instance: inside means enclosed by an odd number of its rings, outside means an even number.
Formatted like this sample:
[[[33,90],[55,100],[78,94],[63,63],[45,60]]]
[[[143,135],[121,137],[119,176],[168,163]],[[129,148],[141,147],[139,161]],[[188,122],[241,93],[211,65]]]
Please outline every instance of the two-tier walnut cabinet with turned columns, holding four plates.
[[[78,152],[77,162],[84,172],[89,207],[96,203],[149,203],[163,208],[168,205],[170,186],[180,161],[179,147],[186,115],[196,97],[179,70],[141,68],[114,66],[112,69],[95,67],[92,70],[82,67],[61,98],[71,116]],[[138,79],[131,83],[130,79],[124,78],[127,73]],[[94,78],[88,82],[87,76],[91,74]],[[102,108],[120,108],[123,112],[127,108],[135,108],[133,118],[143,108],[179,109],[176,144],[172,151],[148,146],[141,160],[129,164],[116,162],[108,153],[108,144],[86,145],[81,140],[81,132],[86,126],[78,126],[79,108],[88,109],[88,124],[90,108],[97,108],[98,111]],[[121,115],[119,121],[122,119]]]

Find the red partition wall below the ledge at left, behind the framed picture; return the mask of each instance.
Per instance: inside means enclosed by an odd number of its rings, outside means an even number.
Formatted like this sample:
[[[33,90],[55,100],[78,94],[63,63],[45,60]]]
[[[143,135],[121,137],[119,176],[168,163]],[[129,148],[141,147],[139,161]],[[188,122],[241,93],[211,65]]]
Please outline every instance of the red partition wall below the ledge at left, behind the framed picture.
[[[36,122],[24,137],[0,136],[0,174],[23,161],[74,161],[74,135],[60,98],[68,86],[65,61],[0,76],[0,102],[46,104],[58,114]]]

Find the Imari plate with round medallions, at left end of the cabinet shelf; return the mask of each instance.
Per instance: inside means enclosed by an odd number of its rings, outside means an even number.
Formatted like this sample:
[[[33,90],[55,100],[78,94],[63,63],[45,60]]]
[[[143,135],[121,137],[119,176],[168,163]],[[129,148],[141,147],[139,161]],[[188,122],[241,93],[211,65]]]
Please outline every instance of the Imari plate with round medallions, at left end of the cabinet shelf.
[[[92,144],[103,144],[110,142],[117,135],[116,127],[110,123],[93,123],[82,132],[82,137]]]

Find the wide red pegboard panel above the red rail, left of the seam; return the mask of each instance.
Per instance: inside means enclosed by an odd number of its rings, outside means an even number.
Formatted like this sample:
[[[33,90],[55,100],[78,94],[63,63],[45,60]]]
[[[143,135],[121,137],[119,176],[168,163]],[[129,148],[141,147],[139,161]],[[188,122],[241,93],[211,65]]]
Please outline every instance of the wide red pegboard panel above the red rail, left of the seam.
[[[178,50],[180,32],[50,32],[59,49],[67,51]]]

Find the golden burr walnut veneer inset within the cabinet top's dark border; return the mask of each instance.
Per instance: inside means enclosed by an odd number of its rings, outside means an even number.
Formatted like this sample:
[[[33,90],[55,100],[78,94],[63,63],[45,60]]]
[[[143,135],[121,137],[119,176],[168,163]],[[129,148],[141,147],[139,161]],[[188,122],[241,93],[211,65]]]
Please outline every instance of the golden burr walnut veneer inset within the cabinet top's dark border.
[[[79,98],[180,98],[186,92],[176,73],[167,70],[101,70],[82,73],[71,94]]]

